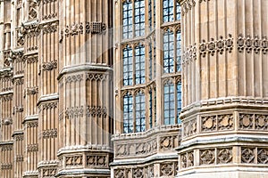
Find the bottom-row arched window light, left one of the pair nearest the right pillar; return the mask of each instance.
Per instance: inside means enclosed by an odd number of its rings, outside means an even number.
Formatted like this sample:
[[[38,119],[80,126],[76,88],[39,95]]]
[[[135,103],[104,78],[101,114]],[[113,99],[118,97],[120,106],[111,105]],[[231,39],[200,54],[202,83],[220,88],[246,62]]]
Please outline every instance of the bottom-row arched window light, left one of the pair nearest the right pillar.
[[[175,124],[175,91],[172,82],[163,86],[163,124]]]

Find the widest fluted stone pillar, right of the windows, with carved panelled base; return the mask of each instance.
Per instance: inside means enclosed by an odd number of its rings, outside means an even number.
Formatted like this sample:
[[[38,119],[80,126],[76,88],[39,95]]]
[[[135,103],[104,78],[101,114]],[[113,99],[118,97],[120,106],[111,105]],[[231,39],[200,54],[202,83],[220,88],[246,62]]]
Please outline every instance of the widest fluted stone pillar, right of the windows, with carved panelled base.
[[[179,2],[183,139],[178,176],[268,176],[268,2]]]

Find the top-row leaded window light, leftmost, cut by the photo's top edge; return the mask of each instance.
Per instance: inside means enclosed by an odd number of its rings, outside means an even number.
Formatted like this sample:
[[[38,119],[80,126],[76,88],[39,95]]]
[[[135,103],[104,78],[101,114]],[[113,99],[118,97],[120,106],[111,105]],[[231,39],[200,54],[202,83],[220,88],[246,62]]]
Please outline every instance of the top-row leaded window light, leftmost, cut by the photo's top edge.
[[[123,38],[132,37],[132,3],[125,2],[123,4],[123,19],[122,19],[122,28],[123,28]]]

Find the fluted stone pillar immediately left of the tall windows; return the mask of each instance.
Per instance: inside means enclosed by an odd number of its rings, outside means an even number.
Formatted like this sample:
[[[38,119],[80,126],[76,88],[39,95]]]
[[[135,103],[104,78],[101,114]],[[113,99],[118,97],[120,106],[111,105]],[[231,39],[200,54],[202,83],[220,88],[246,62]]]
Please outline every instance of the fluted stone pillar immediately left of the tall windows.
[[[60,1],[59,177],[110,177],[111,1]]]

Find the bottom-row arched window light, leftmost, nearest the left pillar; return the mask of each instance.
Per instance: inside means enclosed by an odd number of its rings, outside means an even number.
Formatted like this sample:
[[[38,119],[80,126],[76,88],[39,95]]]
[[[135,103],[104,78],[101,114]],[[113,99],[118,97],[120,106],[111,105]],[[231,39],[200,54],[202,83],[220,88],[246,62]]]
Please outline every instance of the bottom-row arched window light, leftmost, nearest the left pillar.
[[[130,94],[123,97],[123,132],[133,133],[133,96]]]

